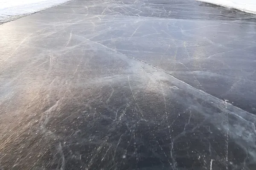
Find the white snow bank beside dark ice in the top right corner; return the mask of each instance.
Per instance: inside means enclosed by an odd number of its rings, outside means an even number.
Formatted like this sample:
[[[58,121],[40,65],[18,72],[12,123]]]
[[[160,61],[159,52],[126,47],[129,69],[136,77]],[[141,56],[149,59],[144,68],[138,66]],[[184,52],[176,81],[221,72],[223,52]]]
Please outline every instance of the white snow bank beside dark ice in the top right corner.
[[[256,0],[198,0],[206,3],[213,3],[228,8],[236,8],[241,11],[256,14]]]

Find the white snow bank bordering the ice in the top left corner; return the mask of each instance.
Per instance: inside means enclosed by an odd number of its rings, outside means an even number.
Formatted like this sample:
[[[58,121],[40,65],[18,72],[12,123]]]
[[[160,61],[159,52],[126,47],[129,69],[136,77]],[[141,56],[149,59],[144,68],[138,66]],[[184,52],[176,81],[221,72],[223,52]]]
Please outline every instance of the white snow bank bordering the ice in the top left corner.
[[[32,14],[68,0],[0,0],[0,23]]]

